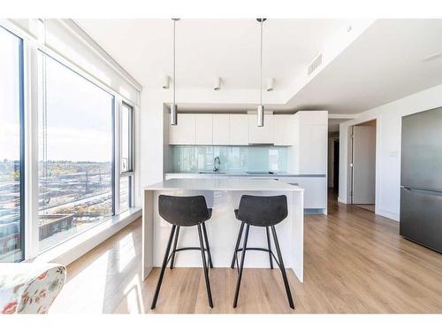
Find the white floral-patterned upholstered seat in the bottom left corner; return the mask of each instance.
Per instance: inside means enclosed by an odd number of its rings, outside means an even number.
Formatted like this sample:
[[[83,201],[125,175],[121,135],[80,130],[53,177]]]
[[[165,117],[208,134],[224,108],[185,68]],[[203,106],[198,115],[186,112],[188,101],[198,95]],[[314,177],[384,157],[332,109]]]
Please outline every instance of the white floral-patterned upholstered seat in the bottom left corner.
[[[58,264],[0,263],[0,314],[48,313],[65,278]]]

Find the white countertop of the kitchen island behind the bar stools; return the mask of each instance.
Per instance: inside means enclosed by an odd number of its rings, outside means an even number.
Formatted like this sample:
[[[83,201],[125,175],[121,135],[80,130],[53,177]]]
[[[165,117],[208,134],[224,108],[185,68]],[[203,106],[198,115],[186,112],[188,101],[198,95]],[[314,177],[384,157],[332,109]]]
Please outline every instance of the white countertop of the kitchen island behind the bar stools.
[[[304,191],[271,179],[171,179],[145,187],[144,190],[223,190],[223,191]]]

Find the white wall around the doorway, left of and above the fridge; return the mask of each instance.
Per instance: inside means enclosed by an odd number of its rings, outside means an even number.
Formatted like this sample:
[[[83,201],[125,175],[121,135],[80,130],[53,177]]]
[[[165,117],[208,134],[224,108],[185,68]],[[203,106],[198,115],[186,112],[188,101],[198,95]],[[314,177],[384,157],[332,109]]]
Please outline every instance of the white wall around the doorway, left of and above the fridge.
[[[403,116],[442,106],[442,85],[403,97],[358,114],[339,125],[339,202],[349,199],[349,127],[377,120],[376,213],[399,221],[400,214],[400,136]]]

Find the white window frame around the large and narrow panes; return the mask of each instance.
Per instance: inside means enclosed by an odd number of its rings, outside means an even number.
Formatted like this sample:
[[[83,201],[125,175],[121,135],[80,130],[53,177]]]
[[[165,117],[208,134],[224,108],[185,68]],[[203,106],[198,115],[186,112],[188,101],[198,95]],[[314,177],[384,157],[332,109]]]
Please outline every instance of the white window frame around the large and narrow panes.
[[[24,261],[31,261],[36,257],[40,256],[44,253],[46,255],[46,251],[50,251],[49,257],[60,251],[64,251],[65,242],[70,242],[75,236],[72,236],[66,239],[63,242],[57,243],[53,247],[50,247],[44,251],[39,250],[39,229],[38,229],[38,144],[39,144],[39,131],[38,131],[38,107],[41,102],[41,97],[39,95],[39,82],[42,79],[41,68],[38,65],[37,55],[39,51],[42,51],[44,54],[50,56],[50,58],[54,58],[63,66],[66,66],[72,72],[79,74],[86,80],[95,84],[97,87],[103,89],[104,91],[110,93],[114,97],[113,104],[113,144],[114,144],[114,158],[113,166],[114,171],[112,173],[112,177],[114,181],[112,181],[114,195],[113,195],[113,216],[110,216],[109,219],[103,220],[103,222],[109,222],[113,219],[118,219],[119,214],[121,213],[119,210],[119,181],[121,176],[130,176],[131,181],[131,190],[130,190],[130,209],[129,211],[124,212],[124,216],[126,218],[127,212],[129,215],[132,213],[138,213],[139,210],[135,211],[133,209],[134,206],[138,204],[139,197],[135,193],[136,186],[139,185],[140,179],[138,178],[140,174],[136,172],[135,168],[137,167],[136,154],[138,151],[136,149],[137,145],[134,141],[135,135],[138,135],[137,120],[138,120],[138,112],[140,102],[140,95],[133,100],[127,99],[127,97],[123,97],[121,91],[118,89],[113,89],[110,87],[109,82],[103,81],[99,76],[96,76],[93,72],[88,70],[88,66],[83,66],[82,62],[75,61],[75,58],[71,58],[69,53],[64,53],[63,50],[57,50],[56,48],[51,47],[51,45],[46,44],[45,37],[43,34],[43,28],[41,27],[44,23],[42,19],[29,19],[29,21],[33,21],[33,23],[38,23],[37,26],[33,26],[32,29],[27,29],[26,27],[22,27],[17,24],[12,19],[0,19],[0,28],[4,28],[6,31],[10,32],[12,35],[17,36],[21,40],[21,47],[23,48],[21,53],[21,74],[23,75],[21,81],[21,112],[22,114],[22,122],[20,123],[20,142],[21,149],[20,151],[20,172],[21,174],[21,183],[20,183],[20,244],[21,244],[21,255]],[[80,35],[81,39],[81,35]],[[86,41],[88,43],[88,41]],[[106,61],[106,58],[99,55],[99,58]],[[118,71],[117,67],[117,71]],[[115,69],[115,68],[114,68]],[[129,80],[126,78],[126,81],[133,85],[132,78]],[[135,81],[136,83],[136,81]],[[135,89],[138,90],[138,93],[141,93],[141,86],[137,87],[133,85]],[[132,147],[132,172],[126,172],[125,174],[120,174],[120,164],[119,164],[119,143],[121,140],[120,131],[119,131],[119,112],[121,104],[125,101],[133,109],[133,147]],[[127,101],[126,101],[127,100]],[[21,210],[22,209],[22,210]],[[95,226],[102,225],[102,223],[97,224]],[[95,226],[93,228],[95,228]],[[94,234],[93,228],[89,228],[88,230],[79,233],[77,235],[88,233]],[[73,240],[74,241],[74,240]],[[81,240],[84,241],[84,240]],[[69,247],[70,244],[67,244]],[[61,247],[57,249],[57,247]],[[43,257],[45,257],[43,255]]]

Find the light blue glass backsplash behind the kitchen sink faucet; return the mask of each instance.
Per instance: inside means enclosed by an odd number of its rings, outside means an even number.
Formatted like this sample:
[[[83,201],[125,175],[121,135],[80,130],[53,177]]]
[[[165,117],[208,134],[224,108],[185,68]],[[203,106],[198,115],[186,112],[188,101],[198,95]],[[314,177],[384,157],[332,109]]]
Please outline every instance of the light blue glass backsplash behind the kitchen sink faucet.
[[[212,171],[215,157],[221,160],[221,172],[287,171],[286,147],[175,145],[172,150],[176,173]]]

